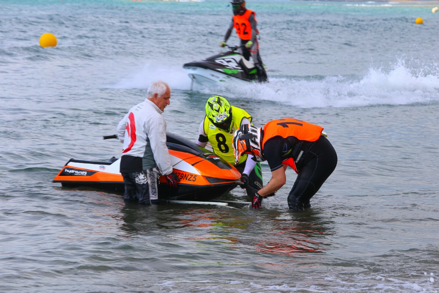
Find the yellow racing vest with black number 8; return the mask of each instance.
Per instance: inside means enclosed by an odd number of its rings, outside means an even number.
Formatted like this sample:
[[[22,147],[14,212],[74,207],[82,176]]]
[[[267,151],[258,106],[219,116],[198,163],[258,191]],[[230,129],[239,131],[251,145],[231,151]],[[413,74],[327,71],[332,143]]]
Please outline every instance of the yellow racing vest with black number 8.
[[[252,116],[248,115],[243,109],[232,107],[232,128],[230,132],[219,129],[205,116],[204,118],[204,133],[212,145],[213,152],[230,164],[234,165],[235,156],[233,153],[233,134],[235,130],[241,126],[242,119],[247,118],[252,123]],[[238,164],[245,162],[247,155],[241,156]]]

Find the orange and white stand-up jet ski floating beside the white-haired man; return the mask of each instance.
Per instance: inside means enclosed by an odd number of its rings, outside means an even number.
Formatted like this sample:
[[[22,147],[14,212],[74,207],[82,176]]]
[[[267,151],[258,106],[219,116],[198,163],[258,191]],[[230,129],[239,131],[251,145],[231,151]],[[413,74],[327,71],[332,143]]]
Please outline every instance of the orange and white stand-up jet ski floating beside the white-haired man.
[[[116,135],[104,137],[117,138]],[[180,178],[178,190],[159,177],[158,196],[164,200],[209,201],[229,192],[241,183],[241,174],[227,161],[180,135],[166,134],[173,170]],[[119,173],[120,159],[108,162],[70,159],[52,182],[62,186],[89,186],[123,192]]]

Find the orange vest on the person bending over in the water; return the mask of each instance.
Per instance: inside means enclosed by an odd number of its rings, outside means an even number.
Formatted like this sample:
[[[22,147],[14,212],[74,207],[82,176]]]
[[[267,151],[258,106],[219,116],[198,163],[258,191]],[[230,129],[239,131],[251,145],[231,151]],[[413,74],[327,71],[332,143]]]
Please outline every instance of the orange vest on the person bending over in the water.
[[[266,141],[275,136],[287,138],[293,136],[300,141],[317,141],[320,138],[323,127],[311,124],[294,118],[284,118],[270,121],[264,126],[264,137],[262,140],[262,148]],[[301,154],[299,154],[299,161]],[[296,173],[296,165],[293,158],[288,158],[282,162],[293,168]]]

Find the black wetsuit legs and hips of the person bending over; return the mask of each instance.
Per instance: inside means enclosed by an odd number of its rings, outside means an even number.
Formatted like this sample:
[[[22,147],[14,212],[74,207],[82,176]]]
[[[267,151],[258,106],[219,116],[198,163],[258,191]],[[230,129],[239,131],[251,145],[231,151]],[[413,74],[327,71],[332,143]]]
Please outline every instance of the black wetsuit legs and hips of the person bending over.
[[[310,207],[309,199],[320,189],[335,166],[337,153],[327,138],[321,136],[306,154],[304,164],[288,195],[290,210],[303,211],[305,207]]]

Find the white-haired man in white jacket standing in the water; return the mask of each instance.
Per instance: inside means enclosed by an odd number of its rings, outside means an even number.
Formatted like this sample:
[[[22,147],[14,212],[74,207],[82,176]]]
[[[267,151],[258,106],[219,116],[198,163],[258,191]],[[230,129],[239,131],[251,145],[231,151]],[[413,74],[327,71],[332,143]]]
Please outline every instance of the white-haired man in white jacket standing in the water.
[[[166,122],[161,115],[170,104],[171,90],[164,81],[155,81],[147,94],[148,98],[131,108],[117,126],[123,143],[120,173],[125,182],[124,199],[158,204],[158,170],[172,187],[177,188],[180,181],[172,170]]]

